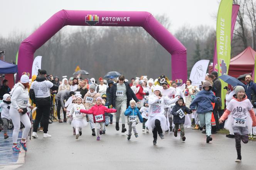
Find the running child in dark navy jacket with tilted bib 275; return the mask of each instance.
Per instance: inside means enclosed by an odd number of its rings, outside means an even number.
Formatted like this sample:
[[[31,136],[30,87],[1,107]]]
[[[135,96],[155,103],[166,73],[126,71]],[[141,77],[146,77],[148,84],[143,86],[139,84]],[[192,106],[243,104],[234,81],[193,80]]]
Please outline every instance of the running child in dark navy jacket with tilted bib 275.
[[[186,140],[184,123],[185,123],[185,112],[191,114],[192,111],[186,107],[182,97],[180,96],[179,100],[176,102],[175,106],[172,108],[173,115],[173,124],[175,124],[174,136],[177,137],[177,132],[180,125],[180,138],[182,141]]]

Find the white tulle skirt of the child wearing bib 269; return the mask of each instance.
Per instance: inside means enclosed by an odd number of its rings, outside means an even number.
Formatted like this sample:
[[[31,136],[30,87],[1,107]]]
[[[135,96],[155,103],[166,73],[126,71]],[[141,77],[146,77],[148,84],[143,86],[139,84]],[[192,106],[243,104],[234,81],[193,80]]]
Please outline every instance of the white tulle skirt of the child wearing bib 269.
[[[251,132],[252,125],[253,125],[253,121],[251,120],[251,116],[249,115],[246,117],[245,127],[234,126],[234,117],[229,116],[225,122],[224,128],[229,130],[230,133],[234,132],[239,135],[248,135],[249,132]]]

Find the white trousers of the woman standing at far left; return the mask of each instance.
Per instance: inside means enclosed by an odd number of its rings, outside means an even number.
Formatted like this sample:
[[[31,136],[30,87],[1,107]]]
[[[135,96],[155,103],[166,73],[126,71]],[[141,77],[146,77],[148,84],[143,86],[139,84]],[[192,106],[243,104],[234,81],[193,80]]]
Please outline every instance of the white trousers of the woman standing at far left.
[[[31,129],[31,122],[29,120],[29,116],[27,114],[20,114],[17,109],[11,107],[10,108],[10,116],[12,118],[13,123],[13,133],[12,133],[12,142],[17,144],[18,135],[20,131],[20,122],[22,122],[25,126],[22,132],[22,139],[27,139],[29,135],[29,130]]]

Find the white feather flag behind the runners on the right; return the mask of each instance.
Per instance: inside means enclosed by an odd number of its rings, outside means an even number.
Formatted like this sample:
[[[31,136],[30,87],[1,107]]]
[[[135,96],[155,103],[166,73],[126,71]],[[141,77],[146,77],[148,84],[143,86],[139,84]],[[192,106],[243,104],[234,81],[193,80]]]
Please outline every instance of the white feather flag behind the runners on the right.
[[[199,86],[202,84],[201,81],[204,81],[209,61],[210,60],[202,59],[197,61],[193,66],[189,79],[194,86]]]

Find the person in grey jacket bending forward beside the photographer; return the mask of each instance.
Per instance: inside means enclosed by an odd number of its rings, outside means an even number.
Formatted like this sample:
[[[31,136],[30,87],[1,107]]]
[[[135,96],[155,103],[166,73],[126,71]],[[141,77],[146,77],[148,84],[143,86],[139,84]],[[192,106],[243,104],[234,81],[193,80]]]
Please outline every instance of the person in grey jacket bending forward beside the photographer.
[[[63,115],[64,115],[63,121],[67,122],[67,119],[66,119],[66,110],[67,109],[65,107],[64,100],[69,99],[69,97],[73,96],[74,94],[75,94],[74,91],[62,90],[62,91],[59,91],[57,93],[57,95],[55,96],[55,99],[57,101],[57,116],[58,116],[58,119],[59,119],[59,123],[62,123],[62,120],[61,120],[61,108],[63,110]]]

